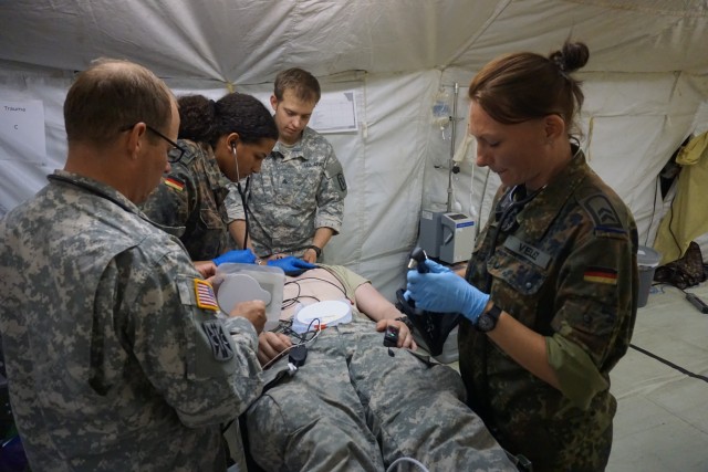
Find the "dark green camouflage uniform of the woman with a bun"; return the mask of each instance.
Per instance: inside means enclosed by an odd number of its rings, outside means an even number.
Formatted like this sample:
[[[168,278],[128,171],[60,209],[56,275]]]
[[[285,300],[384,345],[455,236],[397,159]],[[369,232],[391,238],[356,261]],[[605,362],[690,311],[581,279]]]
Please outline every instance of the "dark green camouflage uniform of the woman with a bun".
[[[534,471],[603,470],[616,410],[610,370],[626,353],[636,317],[634,219],[580,154],[517,221],[492,247],[503,219],[490,218],[467,280],[545,336],[546,346],[555,335],[586,353],[586,374],[603,387],[581,408],[464,321],[458,339],[469,403],[499,443],[523,453]]]

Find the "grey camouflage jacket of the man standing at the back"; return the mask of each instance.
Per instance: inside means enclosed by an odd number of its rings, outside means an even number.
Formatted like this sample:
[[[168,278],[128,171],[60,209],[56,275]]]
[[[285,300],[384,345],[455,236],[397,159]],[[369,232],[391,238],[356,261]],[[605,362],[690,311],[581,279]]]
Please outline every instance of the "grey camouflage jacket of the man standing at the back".
[[[291,253],[301,256],[317,228],[342,228],[346,181],[332,145],[305,128],[302,138],[285,147],[278,141],[251,176],[249,235],[259,256]],[[231,191],[227,201],[231,220],[242,220],[243,207]]]

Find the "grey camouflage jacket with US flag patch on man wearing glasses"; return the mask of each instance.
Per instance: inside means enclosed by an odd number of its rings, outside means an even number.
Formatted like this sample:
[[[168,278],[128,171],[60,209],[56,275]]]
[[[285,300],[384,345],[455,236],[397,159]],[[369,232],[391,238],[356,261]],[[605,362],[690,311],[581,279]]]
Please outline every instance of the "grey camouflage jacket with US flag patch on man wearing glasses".
[[[32,470],[223,471],[219,423],[262,387],[256,331],[230,318],[226,334],[181,244],[115,189],[49,179],[0,222],[0,329]]]

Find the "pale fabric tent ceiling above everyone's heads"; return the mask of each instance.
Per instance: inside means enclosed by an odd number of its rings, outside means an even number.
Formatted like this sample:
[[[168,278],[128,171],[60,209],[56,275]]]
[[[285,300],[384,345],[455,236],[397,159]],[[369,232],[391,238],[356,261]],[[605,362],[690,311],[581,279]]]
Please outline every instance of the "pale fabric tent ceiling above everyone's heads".
[[[82,70],[131,57],[164,77],[271,81],[293,64],[343,71],[477,70],[500,52],[548,53],[566,38],[585,71],[708,74],[704,0],[13,0],[0,60]]]

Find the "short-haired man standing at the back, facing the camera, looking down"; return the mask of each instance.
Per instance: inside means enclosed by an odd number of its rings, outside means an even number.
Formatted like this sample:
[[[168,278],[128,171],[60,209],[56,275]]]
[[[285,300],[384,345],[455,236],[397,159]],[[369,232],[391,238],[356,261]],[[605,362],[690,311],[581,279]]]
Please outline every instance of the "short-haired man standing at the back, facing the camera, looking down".
[[[310,73],[290,69],[275,77],[271,105],[279,140],[251,177],[249,241],[261,258],[301,256],[315,262],[342,228],[346,181],[332,145],[308,127],[320,101],[320,84]],[[227,210],[236,220],[231,234],[243,241],[241,202],[232,191]],[[233,197],[233,198],[231,198]]]

